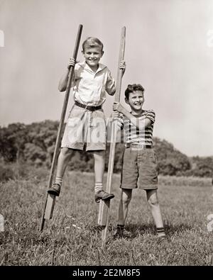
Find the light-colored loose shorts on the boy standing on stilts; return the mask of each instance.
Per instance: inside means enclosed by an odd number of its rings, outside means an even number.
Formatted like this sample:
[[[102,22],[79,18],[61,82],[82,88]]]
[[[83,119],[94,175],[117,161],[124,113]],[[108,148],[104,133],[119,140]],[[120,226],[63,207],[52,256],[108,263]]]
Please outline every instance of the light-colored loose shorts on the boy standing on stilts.
[[[61,147],[75,150],[106,150],[106,121],[104,111],[89,111],[73,106],[62,138]]]

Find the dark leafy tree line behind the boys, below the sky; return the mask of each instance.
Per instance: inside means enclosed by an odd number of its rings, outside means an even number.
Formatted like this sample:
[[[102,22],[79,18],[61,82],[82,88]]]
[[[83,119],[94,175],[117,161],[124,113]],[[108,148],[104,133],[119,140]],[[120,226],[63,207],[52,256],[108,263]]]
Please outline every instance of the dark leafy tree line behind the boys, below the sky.
[[[31,123],[12,123],[0,127],[0,158],[4,163],[25,162],[35,167],[50,168],[58,133],[58,121]],[[154,149],[158,158],[158,174],[170,176],[212,177],[213,157],[187,157],[166,140],[153,138]],[[121,172],[124,143],[116,144],[114,172]],[[107,144],[105,171],[109,159]],[[92,153],[73,151],[70,170],[93,172]]]

